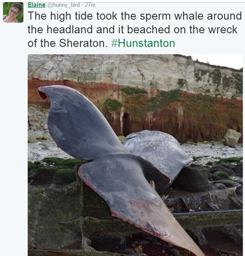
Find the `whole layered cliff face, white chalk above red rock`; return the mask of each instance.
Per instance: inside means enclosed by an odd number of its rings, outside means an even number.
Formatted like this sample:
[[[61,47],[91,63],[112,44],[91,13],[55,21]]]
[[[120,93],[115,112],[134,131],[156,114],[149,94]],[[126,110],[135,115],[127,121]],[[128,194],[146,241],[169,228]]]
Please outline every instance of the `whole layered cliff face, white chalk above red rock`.
[[[242,132],[239,70],[182,55],[29,55],[28,68],[29,103],[48,107],[39,86],[70,86],[118,135],[159,130],[184,142],[220,140],[228,128]]]

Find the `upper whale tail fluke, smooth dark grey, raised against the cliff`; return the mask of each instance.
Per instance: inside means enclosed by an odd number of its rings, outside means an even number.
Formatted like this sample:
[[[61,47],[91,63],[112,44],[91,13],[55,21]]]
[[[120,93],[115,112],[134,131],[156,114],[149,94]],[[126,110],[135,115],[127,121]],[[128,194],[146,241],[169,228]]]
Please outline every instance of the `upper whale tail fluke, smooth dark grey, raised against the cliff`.
[[[78,91],[50,85],[38,88],[51,106],[48,128],[55,143],[67,154],[92,160],[102,154],[128,152],[98,108]]]

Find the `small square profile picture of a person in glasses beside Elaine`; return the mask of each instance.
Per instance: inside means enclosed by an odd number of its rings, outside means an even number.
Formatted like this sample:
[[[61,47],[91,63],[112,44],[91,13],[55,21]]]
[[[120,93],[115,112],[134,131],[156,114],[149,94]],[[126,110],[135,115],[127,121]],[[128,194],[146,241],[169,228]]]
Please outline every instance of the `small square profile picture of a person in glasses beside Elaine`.
[[[3,22],[23,22],[23,3],[3,3]]]

